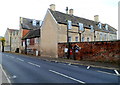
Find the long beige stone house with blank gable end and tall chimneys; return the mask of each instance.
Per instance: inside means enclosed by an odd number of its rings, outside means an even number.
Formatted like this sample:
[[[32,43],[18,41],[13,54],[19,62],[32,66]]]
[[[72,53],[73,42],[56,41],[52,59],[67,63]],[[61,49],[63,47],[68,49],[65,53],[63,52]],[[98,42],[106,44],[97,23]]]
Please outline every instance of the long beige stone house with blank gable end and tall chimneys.
[[[58,57],[58,43],[90,42],[116,40],[116,29],[109,24],[74,15],[74,10],[68,8],[66,13],[55,10],[51,4],[41,27],[40,53],[42,56]],[[68,29],[68,30],[67,30]]]

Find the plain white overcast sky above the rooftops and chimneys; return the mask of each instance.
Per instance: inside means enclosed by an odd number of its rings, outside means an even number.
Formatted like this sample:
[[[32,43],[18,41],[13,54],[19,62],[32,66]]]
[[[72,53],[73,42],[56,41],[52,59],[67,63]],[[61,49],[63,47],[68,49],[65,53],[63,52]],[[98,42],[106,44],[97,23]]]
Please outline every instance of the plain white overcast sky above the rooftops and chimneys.
[[[7,28],[19,29],[19,17],[43,20],[50,4],[65,13],[66,6],[74,9],[74,15],[94,20],[99,15],[102,23],[118,29],[119,0],[0,0],[0,36]]]

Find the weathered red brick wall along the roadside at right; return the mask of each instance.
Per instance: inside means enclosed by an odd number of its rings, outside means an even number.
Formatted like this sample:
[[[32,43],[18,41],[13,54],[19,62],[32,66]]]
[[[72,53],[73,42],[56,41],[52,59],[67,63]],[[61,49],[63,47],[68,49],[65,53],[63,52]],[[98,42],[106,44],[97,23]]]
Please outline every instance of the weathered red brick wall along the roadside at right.
[[[103,62],[118,62],[120,60],[120,40],[118,41],[98,41],[70,43],[73,47],[78,45],[81,49],[78,52],[73,51],[73,56],[77,60],[91,60]],[[66,43],[58,44],[58,56],[65,57]]]

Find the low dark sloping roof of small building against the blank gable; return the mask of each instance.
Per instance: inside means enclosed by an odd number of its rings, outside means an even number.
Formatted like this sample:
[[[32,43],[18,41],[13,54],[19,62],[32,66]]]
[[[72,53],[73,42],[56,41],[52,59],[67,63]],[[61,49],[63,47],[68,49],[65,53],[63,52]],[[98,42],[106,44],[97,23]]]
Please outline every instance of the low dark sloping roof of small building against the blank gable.
[[[30,30],[22,39],[31,39],[40,37],[40,29]]]

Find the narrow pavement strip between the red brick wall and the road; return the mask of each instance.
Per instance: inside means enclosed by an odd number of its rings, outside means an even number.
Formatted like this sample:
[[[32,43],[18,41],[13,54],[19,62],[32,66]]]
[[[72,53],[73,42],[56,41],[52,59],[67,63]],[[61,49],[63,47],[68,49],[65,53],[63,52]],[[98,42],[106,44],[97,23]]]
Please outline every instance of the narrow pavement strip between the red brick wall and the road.
[[[25,55],[25,54],[20,54],[20,53],[13,53],[13,54]],[[95,68],[120,70],[120,65],[115,64],[115,63],[72,60],[72,59],[65,59],[65,58],[53,58],[53,57],[43,57],[43,56],[33,56],[33,55],[25,55],[25,56],[35,57],[35,58],[39,58],[39,59],[43,59],[43,60],[51,61],[51,62],[62,62],[62,63],[70,63],[74,65],[90,66],[90,67],[95,67]]]

